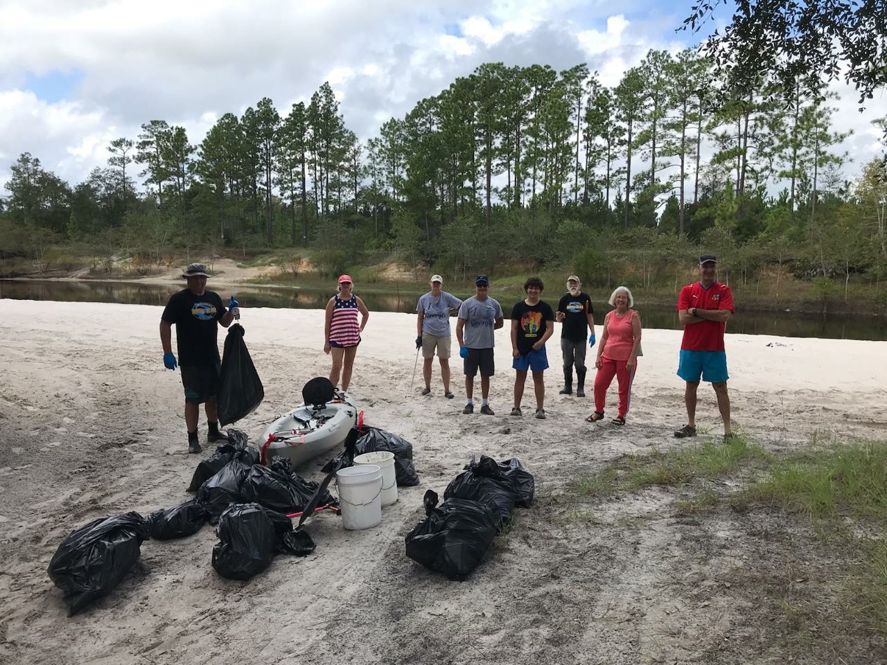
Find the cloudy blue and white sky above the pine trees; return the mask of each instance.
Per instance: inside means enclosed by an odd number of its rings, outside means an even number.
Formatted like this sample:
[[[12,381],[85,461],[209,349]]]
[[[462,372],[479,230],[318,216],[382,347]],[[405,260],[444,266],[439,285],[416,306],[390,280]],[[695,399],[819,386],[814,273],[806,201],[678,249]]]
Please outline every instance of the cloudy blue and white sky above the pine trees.
[[[20,153],[75,184],[106,145],[152,119],[199,144],[223,113],[270,97],[282,113],[329,81],[363,139],[483,62],[585,62],[613,85],[650,48],[678,51],[692,4],[653,0],[0,0],[0,188]],[[883,151],[836,86],[836,129],[860,165]]]

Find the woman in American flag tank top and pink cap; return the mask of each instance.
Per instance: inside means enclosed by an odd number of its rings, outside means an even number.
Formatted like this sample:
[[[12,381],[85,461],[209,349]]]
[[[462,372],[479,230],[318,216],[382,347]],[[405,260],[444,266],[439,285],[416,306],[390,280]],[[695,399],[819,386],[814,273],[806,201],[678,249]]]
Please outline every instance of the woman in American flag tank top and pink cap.
[[[326,303],[324,353],[333,356],[330,381],[334,386],[338,386],[341,374],[341,389],[343,391],[348,390],[351,383],[351,371],[354,369],[354,356],[357,356],[360,333],[366,326],[366,319],[370,317],[370,312],[366,309],[364,301],[351,293],[353,286],[354,282],[349,275],[342,275],[339,278],[339,293]],[[358,312],[360,313],[359,325],[357,324]]]

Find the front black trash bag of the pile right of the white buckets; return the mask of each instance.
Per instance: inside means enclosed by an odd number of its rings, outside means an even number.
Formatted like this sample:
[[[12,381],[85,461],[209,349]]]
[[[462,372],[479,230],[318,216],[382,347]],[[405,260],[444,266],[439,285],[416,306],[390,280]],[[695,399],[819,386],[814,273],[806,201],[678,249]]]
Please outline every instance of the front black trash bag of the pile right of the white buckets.
[[[451,580],[464,580],[481,563],[496,537],[497,516],[487,506],[451,498],[436,506],[425,493],[428,516],[406,535],[406,556]]]

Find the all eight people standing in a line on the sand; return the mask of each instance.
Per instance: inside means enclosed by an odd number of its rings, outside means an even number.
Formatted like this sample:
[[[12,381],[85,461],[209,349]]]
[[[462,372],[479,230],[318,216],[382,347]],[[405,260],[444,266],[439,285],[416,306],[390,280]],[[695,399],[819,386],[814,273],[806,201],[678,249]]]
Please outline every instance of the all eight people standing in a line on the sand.
[[[726,320],[734,312],[730,288],[717,281],[718,260],[712,254],[703,254],[699,261],[700,279],[681,289],[678,315],[684,325],[684,336],[679,356],[679,376],[685,380],[687,425],[674,435],[679,438],[696,435],[695,411],[700,380],[712,384],[718,398],[718,409],[724,420],[725,439],[732,435],[730,401],[727,395],[726,352],[724,331]],[[208,441],[224,440],[216,418],[216,386],[220,371],[217,346],[217,326],[228,327],[239,318],[239,303],[232,298],[225,308],[219,295],[206,290],[207,267],[192,263],[182,275],[187,287],[175,293],[161,316],[161,345],[163,363],[167,369],[176,369],[177,359],[171,348],[171,327],[177,326],[178,364],[182,368],[185,399],[185,423],[188,430],[189,452],[200,452],[197,425],[199,405],[204,404],[208,419]],[[546,418],[546,387],[544,372],[548,369],[546,341],[554,333],[554,323],[561,324],[561,356],[564,385],[561,395],[585,397],[585,356],[588,348],[597,344],[594,366],[594,411],[586,418],[596,422],[604,418],[607,391],[616,378],[618,407],[615,425],[624,425],[631,405],[632,383],[641,356],[640,314],[634,308],[632,292],[617,286],[610,294],[609,304],[614,308],[604,317],[600,343],[594,327],[594,308],[591,297],[581,290],[576,275],[567,278],[567,293],[561,296],[557,309],[541,299],[545,285],[538,277],[523,284],[526,297],[511,310],[512,367],[514,368],[514,405],[512,416],[522,416],[522,400],[527,374],[533,379],[536,399],[534,416]],[[324,325],[324,352],[332,356],[330,381],[347,391],[354,367],[357,346],[364,331],[369,311],[352,291],[354,280],[341,275],[337,293],[326,304]],[[443,380],[443,395],[454,397],[451,391],[451,325],[455,315],[456,340],[465,374],[466,404],[462,412],[475,411],[475,377],[481,375],[481,407],[485,415],[495,415],[490,405],[490,378],[496,372],[493,349],[495,331],[505,325],[502,307],[491,298],[490,278],[475,278],[475,294],[465,301],[443,291],[443,278],[433,275],[430,291],[424,293],[417,305],[416,350],[423,357],[422,375],[425,386],[421,395],[431,393],[431,375],[437,356]],[[588,333],[587,347],[585,333]],[[573,382],[573,376],[576,382]]]

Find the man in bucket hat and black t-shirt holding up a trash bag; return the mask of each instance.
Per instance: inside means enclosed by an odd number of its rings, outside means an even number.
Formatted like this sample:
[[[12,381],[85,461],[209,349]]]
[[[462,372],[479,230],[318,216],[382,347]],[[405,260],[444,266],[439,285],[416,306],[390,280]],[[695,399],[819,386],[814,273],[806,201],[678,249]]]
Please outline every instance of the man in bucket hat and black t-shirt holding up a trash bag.
[[[225,309],[215,291],[207,291],[210,277],[206,265],[191,263],[182,273],[187,288],[174,293],[161,315],[161,345],[163,365],[168,370],[181,367],[184,386],[184,423],[188,429],[188,452],[200,452],[197,425],[200,404],[207,414],[209,434],[207,441],[227,440],[220,432],[216,414],[216,387],[221,370],[218,348],[218,326],[227,328],[240,317],[239,303],[231,296]],[[172,326],[176,325],[176,355],[172,352]]]

